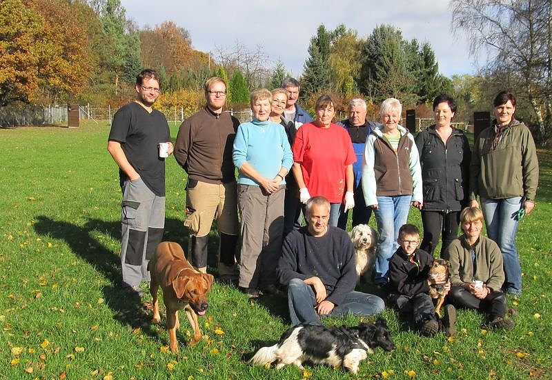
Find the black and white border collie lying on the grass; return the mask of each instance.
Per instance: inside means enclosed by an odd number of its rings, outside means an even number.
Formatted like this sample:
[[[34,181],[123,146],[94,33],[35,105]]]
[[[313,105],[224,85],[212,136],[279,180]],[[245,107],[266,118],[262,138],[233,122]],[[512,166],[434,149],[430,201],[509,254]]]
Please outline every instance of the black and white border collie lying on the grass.
[[[303,370],[303,363],[310,362],[342,367],[356,374],[360,361],[377,347],[395,350],[391,333],[381,318],[354,327],[298,325],[284,332],[274,346],[259,348],[249,363],[265,366],[276,362],[277,369],[295,364]]]

